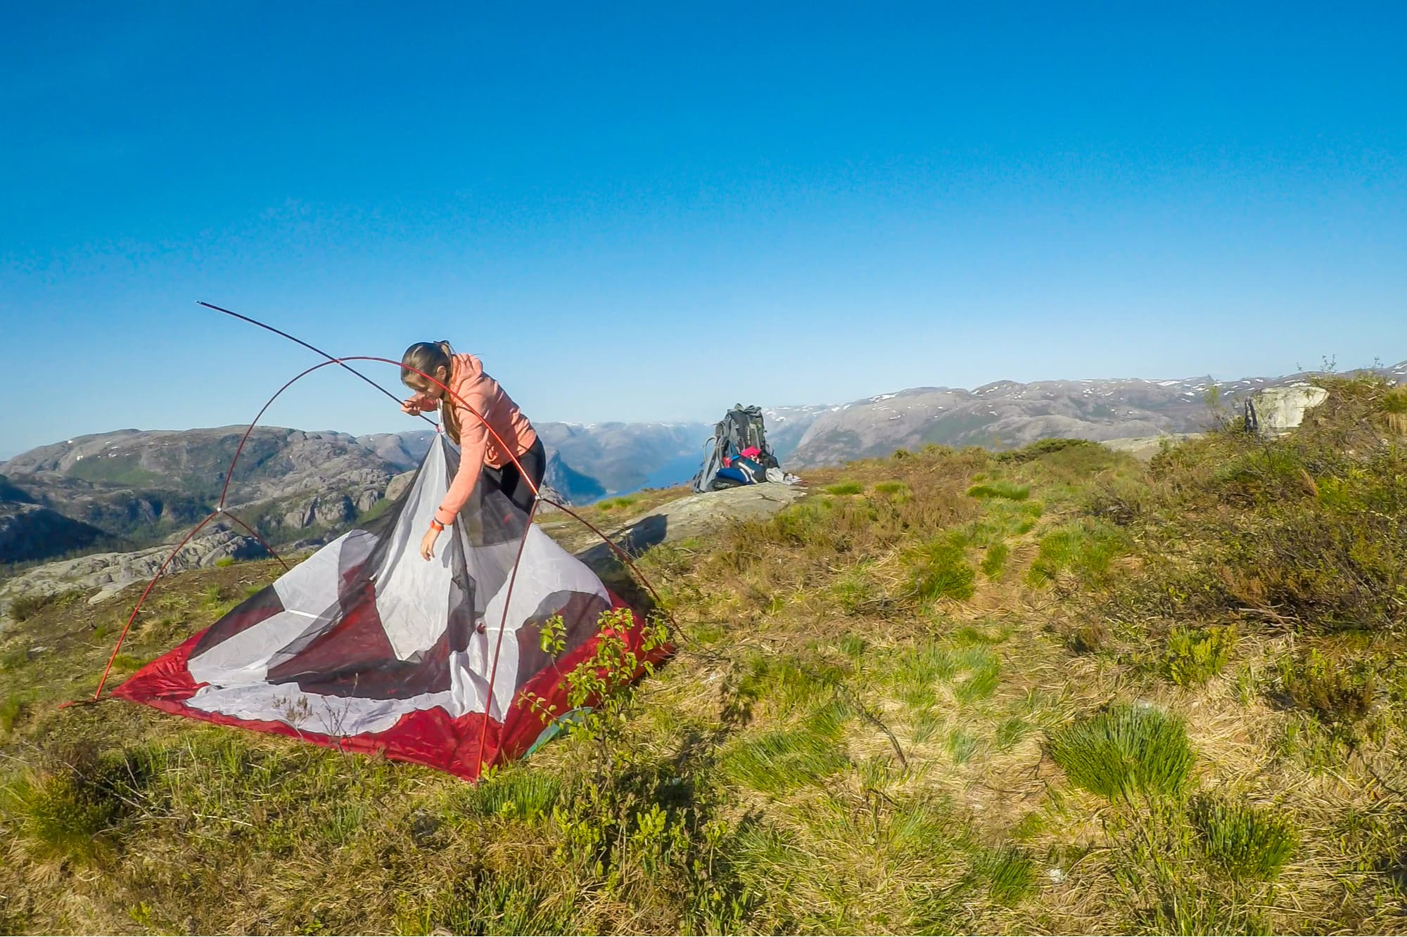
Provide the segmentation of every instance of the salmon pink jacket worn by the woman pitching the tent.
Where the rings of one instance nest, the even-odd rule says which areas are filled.
[[[453,407],[459,419],[459,471],[454,473],[454,481],[450,483],[439,511],[435,512],[435,519],[440,523],[454,522],[460,508],[474,494],[484,466],[502,468],[512,463],[501,452],[498,440],[484,428],[484,422],[469,409],[470,407],[484,416],[515,456],[522,456],[537,442],[537,432],[532,423],[498,381],[484,373],[484,363],[477,356],[454,355],[452,364],[453,370],[446,384],[454,394],[445,394],[445,405]],[[428,400],[421,404],[422,411],[436,408],[438,401]]]

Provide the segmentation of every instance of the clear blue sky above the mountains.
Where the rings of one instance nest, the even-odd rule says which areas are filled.
[[[11,4],[0,457],[1407,359],[1407,7],[1135,6]]]

